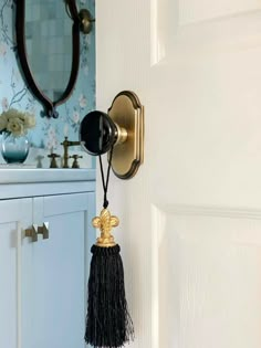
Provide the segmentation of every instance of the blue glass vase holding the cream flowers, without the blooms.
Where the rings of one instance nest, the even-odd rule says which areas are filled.
[[[23,164],[28,157],[30,143],[27,136],[2,135],[1,152],[7,164]]]

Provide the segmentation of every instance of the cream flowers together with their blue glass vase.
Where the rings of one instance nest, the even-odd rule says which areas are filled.
[[[10,108],[0,115],[1,152],[8,164],[22,164],[29,152],[28,129],[35,126],[32,114]]]

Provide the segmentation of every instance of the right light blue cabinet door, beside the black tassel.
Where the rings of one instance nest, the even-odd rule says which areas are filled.
[[[33,221],[49,224],[24,255],[24,348],[84,347],[86,282],[94,239],[94,193],[33,199]],[[25,289],[27,287],[27,289]]]

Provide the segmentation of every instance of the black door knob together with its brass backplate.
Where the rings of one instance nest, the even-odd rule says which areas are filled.
[[[144,107],[137,95],[123,91],[108,113],[88,113],[80,126],[85,151],[100,156],[113,148],[112,169],[121,179],[132,178],[144,159]]]

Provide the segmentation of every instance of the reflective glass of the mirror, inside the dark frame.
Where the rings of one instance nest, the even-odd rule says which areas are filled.
[[[42,93],[59,101],[72,67],[72,19],[63,0],[25,0],[28,64]]]

